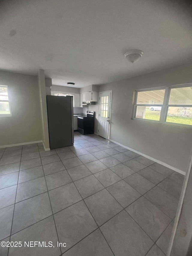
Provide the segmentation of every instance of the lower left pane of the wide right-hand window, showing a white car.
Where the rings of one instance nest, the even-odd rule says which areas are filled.
[[[155,107],[154,107],[155,108]],[[159,107],[161,108],[161,107]],[[160,120],[161,109],[149,109],[148,106],[137,106],[136,116],[137,118],[148,119],[148,120]]]

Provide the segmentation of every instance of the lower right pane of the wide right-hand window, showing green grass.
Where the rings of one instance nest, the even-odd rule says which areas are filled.
[[[192,107],[169,107],[166,122],[192,125]]]

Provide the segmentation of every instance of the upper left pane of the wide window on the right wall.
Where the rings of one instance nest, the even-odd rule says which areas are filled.
[[[164,101],[165,89],[137,92],[137,104],[161,105]]]

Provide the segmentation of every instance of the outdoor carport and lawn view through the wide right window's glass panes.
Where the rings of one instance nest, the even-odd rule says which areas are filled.
[[[137,92],[135,117],[160,121],[164,96],[165,89]],[[165,121],[170,123],[192,125],[192,87],[172,88],[168,98],[169,103],[165,108],[165,111],[167,111]],[[164,115],[164,113],[162,114]]]

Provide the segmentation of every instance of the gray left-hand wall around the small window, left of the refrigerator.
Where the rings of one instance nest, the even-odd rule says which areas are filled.
[[[42,140],[37,76],[0,71],[8,86],[12,116],[0,116],[0,146]]]

